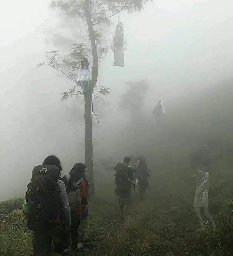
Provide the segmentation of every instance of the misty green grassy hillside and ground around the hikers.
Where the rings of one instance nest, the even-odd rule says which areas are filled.
[[[150,191],[145,202],[134,196],[130,216],[122,223],[113,173],[101,172],[96,178],[95,200],[90,204],[88,235],[92,240],[83,245],[82,255],[233,255],[232,95],[231,82],[223,87],[213,85],[165,106],[167,115],[161,127],[144,120],[147,132],[121,133],[132,142],[131,148],[140,145],[147,155]],[[211,159],[209,211],[217,234],[211,232],[211,224],[206,232],[196,233],[199,223],[192,208],[196,184],[190,178],[193,169],[189,163],[196,146],[206,147]],[[31,256],[31,233],[23,234],[22,213],[12,213],[17,205],[12,207],[13,201],[0,203],[0,255]]]

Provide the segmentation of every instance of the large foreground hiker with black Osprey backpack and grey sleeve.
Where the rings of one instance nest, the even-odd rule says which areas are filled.
[[[60,175],[60,160],[48,156],[43,165],[32,171],[32,180],[27,186],[27,226],[33,231],[33,252],[35,256],[50,256],[52,242],[54,256],[61,256],[70,232],[70,208],[66,187]]]

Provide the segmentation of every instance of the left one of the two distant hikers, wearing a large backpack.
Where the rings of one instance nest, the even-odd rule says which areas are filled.
[[[119,205],[121,209],[122,219],[128,215],[129,207],[132,203],[131,200],[131,190],[132,185],[135,184],[134,180],[134,170],[129,167],[130,158],[127,156],[124,159],[124,163],[117,163],[115,170],[115,194],[119,196]]]

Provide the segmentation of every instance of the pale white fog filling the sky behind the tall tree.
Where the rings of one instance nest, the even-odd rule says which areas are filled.
[[[58,155],[65,173],[85,161],[83,97],[61,101],[72,82],[49,67],[36,67],[46,51],[69,49],[69,42],[56,46],[52,40],[50,32],[59,32],[62,18],[48,9],[49,2],[0,3],[0,200],[22,196],[32,168],[47,155]],[[104,35],[108,46],[118,17],[111,22]],[[101,121],[93,117],[96,168],[101,159],[121,161],[124,154],[154,147],[138,135],[147,127],[147,138],[157,136],[151,113],[158,98],[172,110],[232,78],[232,1],[157,0],[140,13],[121,12],[121,22],[127,38],[125,67],[113,66],[109,49],[99,69],[97,85],[111,88],[111,95],[94,103]],[[128,92],[129,109],[122,108],[128,82],[138,81],[141,86]],[[134,116],[130,103],[142,92],[143,104]]]

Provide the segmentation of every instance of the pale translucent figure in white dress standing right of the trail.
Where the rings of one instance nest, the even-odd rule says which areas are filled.
[[[208,210],[208,206],[209,206],[208,193],[209,193],[209,186],[210,186],[209,172],[205,172],[202,169],[197,169],[196,175],[194,174],[191,176],[196,177],[197,179],[196,192],[195,192],[194,202],[193,202],[193,207],[196,208],[196,214],[201,226],[201,228],[198,229],[197,231],[205,230],[203,219],[200,213],[200,208],[203,208],[204,214],[211,221],[213,225],[213,233],[216,233],[217,231],[216,224],[214,223],[213,217],[210,215]]]

